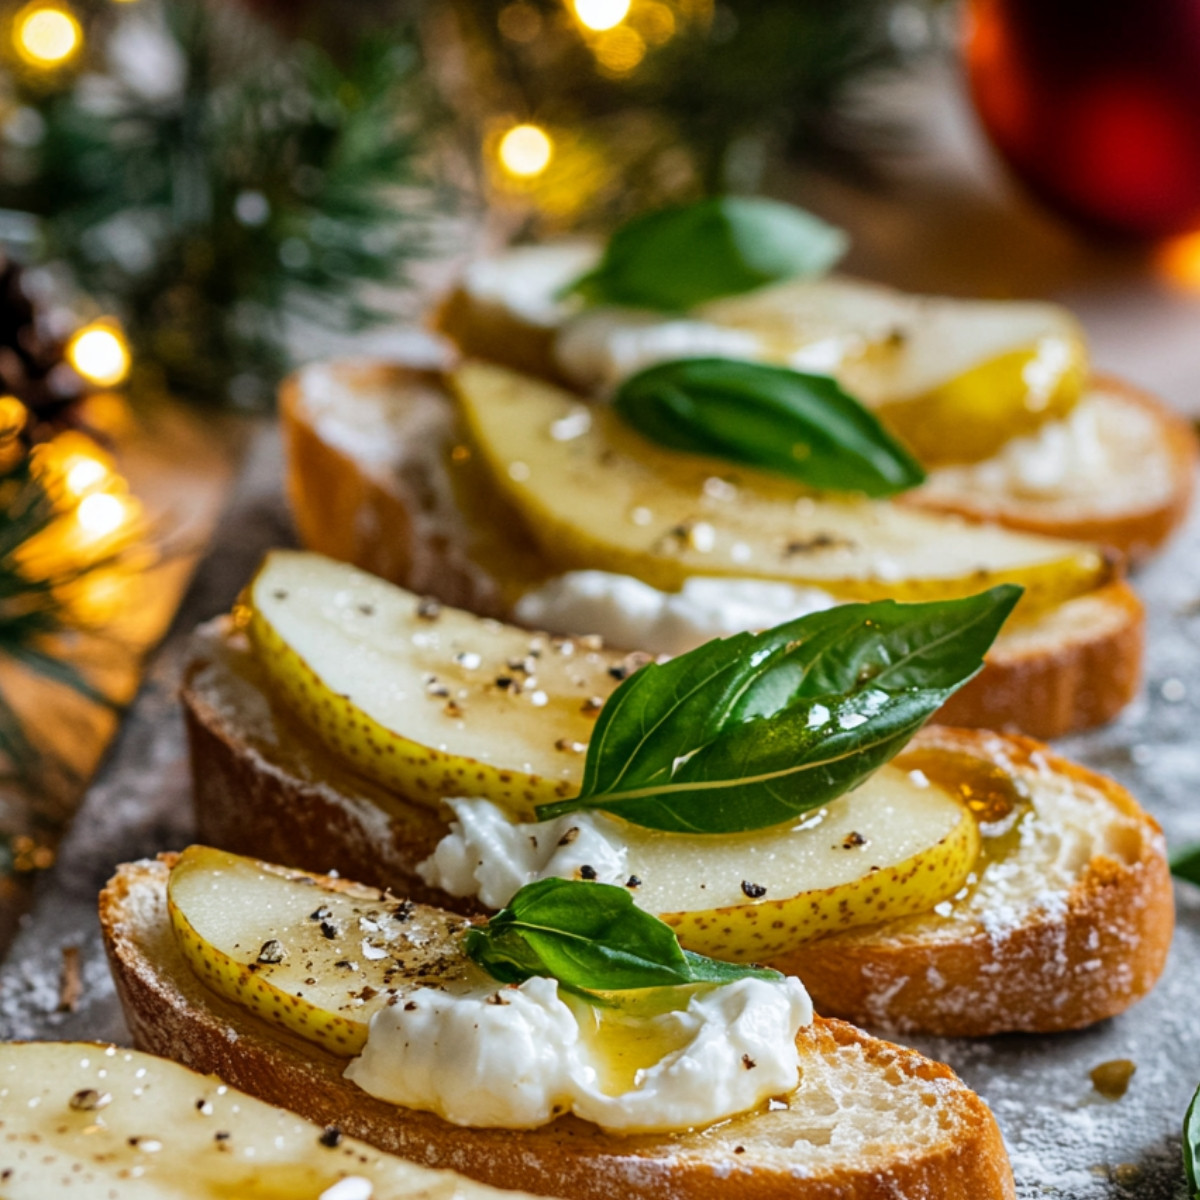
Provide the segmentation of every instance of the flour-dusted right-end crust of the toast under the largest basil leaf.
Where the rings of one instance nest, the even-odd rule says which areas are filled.
[[[774,964],[799,974],[817,1008],[896,1032],[979,1037],[1054,1033],[1124,1012],[1166,965],[1175,896],[1158,823],[1114,780],[1032,738],[931,727],[920,744],[1003,758],[1096,790],[1138,834],[1126,860],[1096,854],[1066,902],[1001,932],[974,923],[952,941],[895,936],[888,925],[811,942]],[[894,928],[894,926],[893,926]]]

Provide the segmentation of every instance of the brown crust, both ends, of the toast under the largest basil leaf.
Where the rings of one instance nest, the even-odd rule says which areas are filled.
[[[202,840],[480,911],[431,889],[416,874],[446,832],[438,812],[349,774],[278,712],[272,744],[248,739],[212,686],[212,672],[222,670],[230,667],[202,652],[182,694]],[[1133,820],[1129,862],[1091,862],[1061,912],[1050,918],[1031,906],[1027,920],[1001,934],[972,925],[950,941],[913,942],[890,938],[883,925],[811,942],[774,965],[804,980],[820,1012],[905,1032],[1076,1028],[1144,996],[1165,964],[1174,896],[1162,832],[1129,793],[1028,738],[931,726],[912,746],[942,746],[1015,772],[1036,762],[1085,784]]]

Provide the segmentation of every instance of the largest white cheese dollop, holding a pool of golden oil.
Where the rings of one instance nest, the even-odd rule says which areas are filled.
[[[739,979],[685,1009],[614,1014],[553,979],[452,995],[431,988],[378,1012],[347,1078],[455,1124],[532,1129],[575,1112],[613,1133],[712,1124],[792,1091],[812,1004],[796,978]]]

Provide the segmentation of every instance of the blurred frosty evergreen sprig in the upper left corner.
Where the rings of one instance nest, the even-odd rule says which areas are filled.
[[[0,158],[0,206],[124,319],[134,386],[265,403],[289,332],[394,316],[371,288],[404,284],[424,248],[415,35],[335,64],[229,4],[121,10],[91,23],[94,56],[140,22],[155,78],[29,91],[40,136]]]

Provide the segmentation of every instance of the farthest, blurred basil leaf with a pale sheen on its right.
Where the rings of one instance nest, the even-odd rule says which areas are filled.
[[[590,304],[680,312],[779,280],[823,275],[847,238],[790,204],[721,196],[647,212],[566,290]]]

